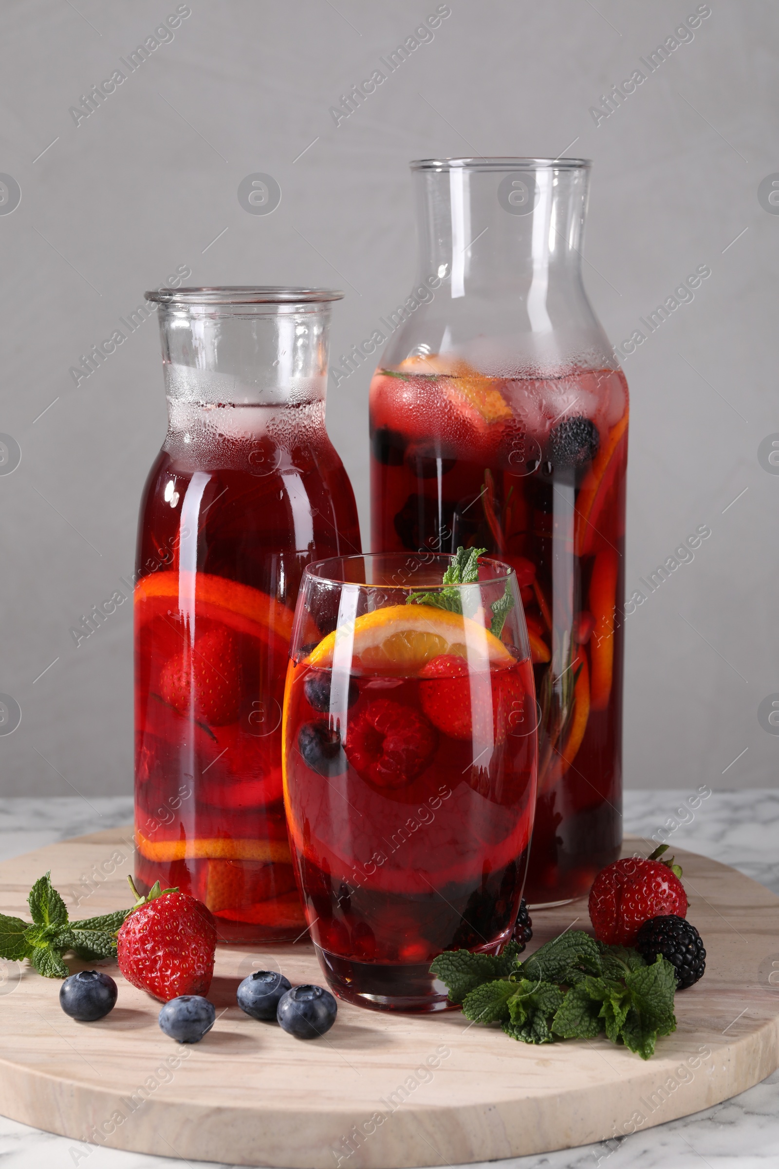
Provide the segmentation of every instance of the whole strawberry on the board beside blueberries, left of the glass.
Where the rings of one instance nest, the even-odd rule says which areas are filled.
[[[138,897],[132,878],[130,886]],[[216,928],[202,901],[153,886],[117,934],[117,961],[127,982],[167,1003],[207,995],[214,976]]]

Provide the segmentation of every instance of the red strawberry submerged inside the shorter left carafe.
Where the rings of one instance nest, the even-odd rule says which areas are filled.
[[[180,714],[213,726],[235,722],[241,706],[241,659],[236,641],[224,625],[199,635],[192,653],[174,653],[160,673],[160,696]]]

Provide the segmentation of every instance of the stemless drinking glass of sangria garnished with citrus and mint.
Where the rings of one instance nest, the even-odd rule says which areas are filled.
[[[285,807],[322,970],[363,1007],[444,1009],[432,960],[496,953],[516,920],[537,711],[515,573],[478,552],[304,573]]]

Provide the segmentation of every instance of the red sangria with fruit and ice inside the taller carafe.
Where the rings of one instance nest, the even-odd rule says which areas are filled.
[[[439,360],[374,378],[374,539],[479,545],[514,568],[541,708],[526,897],[564,900],[613,859],[619,824],[627,387],[608,369],[422,372]]]

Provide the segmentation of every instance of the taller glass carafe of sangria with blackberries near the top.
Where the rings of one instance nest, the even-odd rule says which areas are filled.
[[[370,388],[373,547],[517,574],[538,696],[527,897],[621,843],[625,376],[582,283],[589,162],[412,162],[422,267]]]

